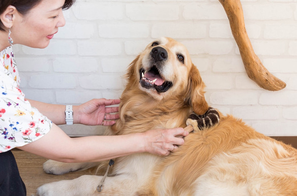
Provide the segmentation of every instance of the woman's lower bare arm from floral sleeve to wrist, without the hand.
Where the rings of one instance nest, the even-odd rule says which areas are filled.
[[[96,162],[144,152],[145,137],[131,134],[69,138],[53,124],[45,136],[19,149],[62,162]]]

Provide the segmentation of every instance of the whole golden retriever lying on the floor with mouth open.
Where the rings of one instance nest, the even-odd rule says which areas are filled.
[[[156,80],[154,80],[156,79]],[[204,83],[187,50],[161,38],[131,63],[121,96],[120,119],[107,135],[185,127],[192,111],[206,112]],[[45,184],[39,195],[297,195],[297,150],[257,133],[232,116],[185,137],[169,156],[149,153],[119,157],[102,176]],[[106,170],[108,162],[100,168]],[[88,164],[87,164],[88,165]],[[63,169],[60,168],[63,167]],[[47,161],[48,173],[91,167]]]

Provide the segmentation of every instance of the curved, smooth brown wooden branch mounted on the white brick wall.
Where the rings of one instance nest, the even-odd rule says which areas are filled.
[[[242,62],[250,79],[255,81],[261,88],[267,90],[281,90],[286,83],[272,75],[262,64],[255,54],[251,41],[248,37],[244,12],[240,0],[219,0],[228,16],[231,31],[239,48]]]

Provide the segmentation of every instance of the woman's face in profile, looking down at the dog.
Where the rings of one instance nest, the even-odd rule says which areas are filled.
[[[24,16],[18,14],[11,27],[15,44],[45,48],[58,28],[65,25],[62,6],[65,0],[42,0]]]

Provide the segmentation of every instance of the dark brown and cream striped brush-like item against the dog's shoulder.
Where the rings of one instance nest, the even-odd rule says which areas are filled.
[[[208,108],[208,110],[203,115],[197,115],[192,112],[188,119],[186,120],[186,125],[192,125],[194,132],[209,128],[220,121],[220,114],[214,108]]]

